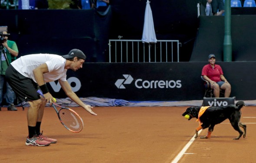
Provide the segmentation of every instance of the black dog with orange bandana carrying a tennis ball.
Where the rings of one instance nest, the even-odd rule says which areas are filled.
[[[194,106],[187,108],[186,112],[182,114],[182,116],[189,115],[191,118],[197,118],[199,120],[200,125],[196,129],[196,136],[198,137],[198,131],[200,129],[208,128],[207,136],[201,137],[204,139],[210,138],[210,134],[213,131],[215,125],[223,122],[226,119],[230,120],[233,128],[239,132],[239,136],[234,138],[234,140],[238,140],[242,135],[243,138],[246,137],[246,125],[240,122],[241,111],[240,109],[245,106],[243,101],[236,102],[236,105],[227,105],[221,107],[200,107]],[[204,112],[203,112],[204,110]],[[243,128],[243,131],[239,128]]]

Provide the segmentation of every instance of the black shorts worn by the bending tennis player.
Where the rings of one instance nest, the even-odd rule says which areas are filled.
[[[38,90],[37,83],[28,77],[24,77],[11,64],[7,68],[5,76],[21,102],[40,99],[36,92]]]

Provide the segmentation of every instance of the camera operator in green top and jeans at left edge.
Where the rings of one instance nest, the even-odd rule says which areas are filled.
[[[3,38],[2,45],[0,45],[1,55],[0,55],[0,110],[2,107],[3,97],[5,97],[9,111],[16,111],[16,107],[13,105],[14,92],[13,89],[6,81],[5,71],[12,61],[16,59],[19,54],[16,42],[8,40],[7,31],[3,31],[0,36]],[[2,40],[2,39],[1,39]],[[6,54],[6,56],[5,56]],[[6,83],[6,95],[3,93],[3,85]]]

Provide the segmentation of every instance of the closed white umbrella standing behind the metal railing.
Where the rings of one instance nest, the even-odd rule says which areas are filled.
[[[153,21],[152,11],[149,3],[150,3],[149,0],[147,0],[145,16],[144,16],[144,28],[143,28],[142,41],[147,43],[156,43],[157,38],[154,31],[154,21]]]

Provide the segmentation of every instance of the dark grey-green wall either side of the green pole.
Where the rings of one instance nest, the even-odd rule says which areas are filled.
[[[199,20],[190,61],[206,61],[209,54],[223,61],[224,16],[200,16]],[[255,15],[231,16],[232,61],[256,61],[256,32],[252,27],[255,21]]]

